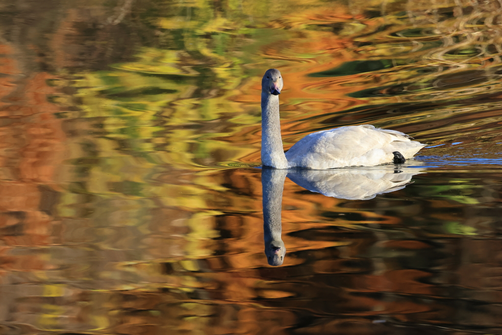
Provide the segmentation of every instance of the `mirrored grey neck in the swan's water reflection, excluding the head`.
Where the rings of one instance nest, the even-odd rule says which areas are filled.
[[[263,231],[265,244],[282,243],[281,203],[287,170],[262,169]]]

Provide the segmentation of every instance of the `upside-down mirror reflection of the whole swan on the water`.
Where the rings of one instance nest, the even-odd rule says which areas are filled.
[[[281,238],[281,202],[286,175],[296,184],[312,192],[343,199],[367,200],[376,194],[406,187],[411,178],[421,173],[403,165],[334,170],[262,169],[263,230],[265,254],[270,265],[283,264],[286,247]]]

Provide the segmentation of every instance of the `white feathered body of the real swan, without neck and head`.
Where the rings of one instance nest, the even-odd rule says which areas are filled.
[[[347,166],[375,166],[393,161],[399,151],[406,159],[425,144],[394,130],[371,125],[348,126],[305,136],[286,153],[288,167],[316,170]]]

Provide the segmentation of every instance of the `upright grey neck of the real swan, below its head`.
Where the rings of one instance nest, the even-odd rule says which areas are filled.
[[[262,164],[287,169],[279,120],[279,96],[262,91]]]

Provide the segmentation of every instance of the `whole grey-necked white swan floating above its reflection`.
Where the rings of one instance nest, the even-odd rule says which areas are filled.
[[[309,134],[285,154],[279,119],[279,94],[283,85],[279,70],[265,72],[262,79],[262,164],[266,167],[326,170],[404,163],[426,146],[395,130],[361,125]]]

